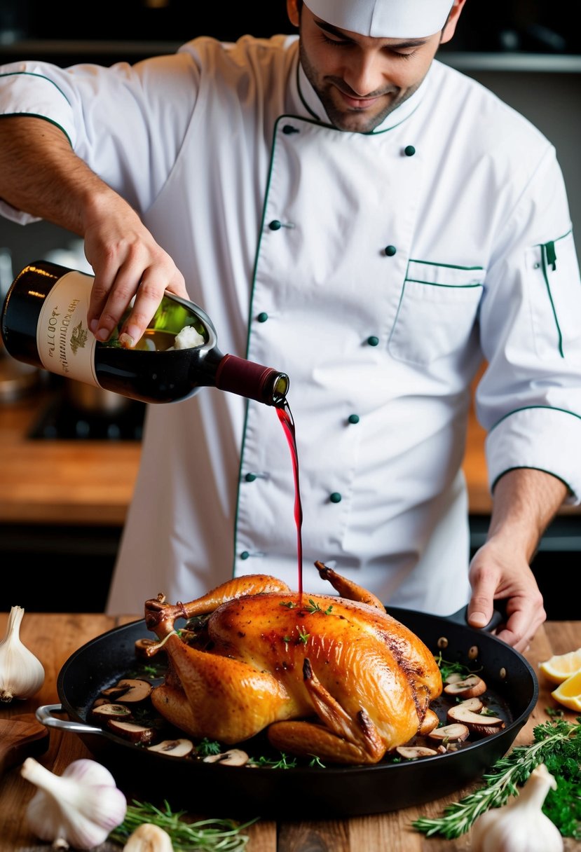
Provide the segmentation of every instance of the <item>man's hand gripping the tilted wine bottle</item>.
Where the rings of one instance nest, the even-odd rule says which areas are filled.
[[[95,273],[89,328],[98,340],[107,340],[135,296],[120,331],[137,343],[165,290],[188,298],[183,275],[135,210],[109,187],[91,199],[85,226],[85,256]]]

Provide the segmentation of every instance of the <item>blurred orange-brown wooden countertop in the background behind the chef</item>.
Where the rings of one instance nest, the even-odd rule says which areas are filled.
[[[135,486],[138,441],[30,440],[47,392],[0,402],[0,523],[123,526]],[[489,515],[484,430],[474,413],[463,469],[472,515]],[[563,513],[579,509],[563,509]]]

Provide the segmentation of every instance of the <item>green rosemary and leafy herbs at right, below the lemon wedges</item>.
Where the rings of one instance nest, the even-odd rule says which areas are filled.
[[[476,817],[490,808],[505,804],[510,796],[518,792],[517,785],[525,783],[532,770],[539,763],[545,763],[547,769],[557,781],[557,790],[549,791],[545,808],[555,822],[561,834],[569,837],[581,837],[579,817],[581,816],[581,735],[577,723],[559,719],[545,722],[533,729],[534,741],[531,746],[515,746],[505,757],[501,757],[492,767],[490,774],[482,776],[483,786],[454,802],[444,809],[440,817],[420,817],[412,826],[428,837],[440,834],[445,838],[458,838],[467,832]],[[575,794],[572,796],[572,787]],[[552,795],[551,795],[552,794]],[[559,803],[567,798],[568,825],[559,824],[554,814],[559,813]],[[577,819],[571,820],[571,809],[577,806]]]

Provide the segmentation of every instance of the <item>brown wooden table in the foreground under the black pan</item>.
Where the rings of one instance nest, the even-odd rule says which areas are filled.
[[[33,713],[38,705],[59,702],[56,693],[56,677],[66,659],[89,639],[101,635],[112,627],[133,621],[137,616],[113,619],[101,614],[76,613],[25,613],[20,627],[20,638],[32,653],[43,663],[46,679],[43,688],[26,701],[2,705],[0,718]],[[7,613],[0,613],[0,638],[6,630]],[[535,670],[540,660],[548,659],[553,653],[565,653],[581,647],[581,621],[549,622],[538,630],[526,657]],[[546,707],[555,707],[550,696],[549,685],[539,676],[540,694],[532,717],[521,729],[515,745],[532,741],[532,728],[548,717]],[[574,713],[567,713],[574,720]],[[92,757],[77,734],[50,729],[48,751],[37,759],[46,767],[60,774],[69,763],[78,757]],[[46,843],[41,844],[26,829],[24,819],[26,803],[32,797],[34,787],[20,777],[18,766],[8,769],[0,785],[0,849],[3,852],[47,852]],[[350,820],[322,820],[275,824],[262,820],[248,830],[249,852],[468,852],[469,834],[456,841],[426,838],[411,828],[417,816],[438,816],[447,803],[457,801],[469,790],[461,790],[451,797],[433,803],[377,816],[358,817]],[[227,818],[225,813],[212,814]],[[565,849],[578,849],[578,843],[565,840]],[[104,843],[100,852],[109,852],[120,847]]]

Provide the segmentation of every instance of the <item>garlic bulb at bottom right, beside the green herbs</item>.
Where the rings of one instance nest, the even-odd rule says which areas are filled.
[[[556,781],[541,763],[519,796],[475,820],[472,852],[561,852],[561,832],[542,811],[549,787],[555,790]]]

